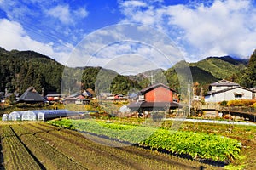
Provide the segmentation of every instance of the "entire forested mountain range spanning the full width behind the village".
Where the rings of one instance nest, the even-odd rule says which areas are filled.
[[[189,65],[199,94],[201,88],[207,92],[208,85],[219,79],[238,82],[247,88],[256,86],[255,58],[256,52],[251,56],[249,64],[247,59],[224,56],[209,57],[196,63],[186,63],[186,65]],[[0,65],[0,91],[2,92],[7,89],[9,92],[21,94],[26,88],[34,86],[39,93],[43,88],[44,94],[61,93],[61,82],[64,82],[62,87],[68,87],[66,93],[92,88],[98,93],[106,91],[127,94],[146,88],[154,82],[163,82],[179,90],[177,69],[182,62],[166,71],[157,69],[136,76],[122,76],[101,67],[67,68],[54,59],[33,51],[7,51],[0,48]],[[65,81],[62,81],[63,78]]]

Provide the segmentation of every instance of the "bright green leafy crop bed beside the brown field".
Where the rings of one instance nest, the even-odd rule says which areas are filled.
[[[67,120],[50,122],[61,127],[108,136],[112,139],[140,144],[152,149],[170,151],[174,154],[186,154],[193,159],[230,162],[239,158],[241,143],[224,136],[171,131],[151,127],[133,127],[131,125],[94,122],[89,120]],[[126,129],[126,130],[124,130]]]

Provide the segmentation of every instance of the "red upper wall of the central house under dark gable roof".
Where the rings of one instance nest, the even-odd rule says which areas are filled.
[[[144,97],[148,102],[172,102],[172,91],[158,87],[148,91]]]

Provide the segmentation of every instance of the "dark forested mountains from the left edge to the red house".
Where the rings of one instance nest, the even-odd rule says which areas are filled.
[[[61,93],[62,78],[70,93],[78,89],[100,88],[101,91],[126,94],[132,88],[141,88],[137,81],[114,71],[101,67],[67,68],[54,59],[33,51],[6,51],[0,48],[0,65],[1,92],[7,89],[8,92],[22,94],[26,88],[33,86],[38,93],[42,93],[44,88],[44,95]],[[64,68],[67,75],[63,75]]]

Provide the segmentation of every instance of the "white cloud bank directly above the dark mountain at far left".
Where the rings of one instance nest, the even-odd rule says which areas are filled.
[[[20,51],[33,50],[48,55],[64,65],[67,63],[69,53],[73,49],[71,44],[55,47],[53,42],[35,41],[26,34],[20,23],[7,19],[0,20],[0,37],[0,47],[2,48],[7,50],[18,49]]]

